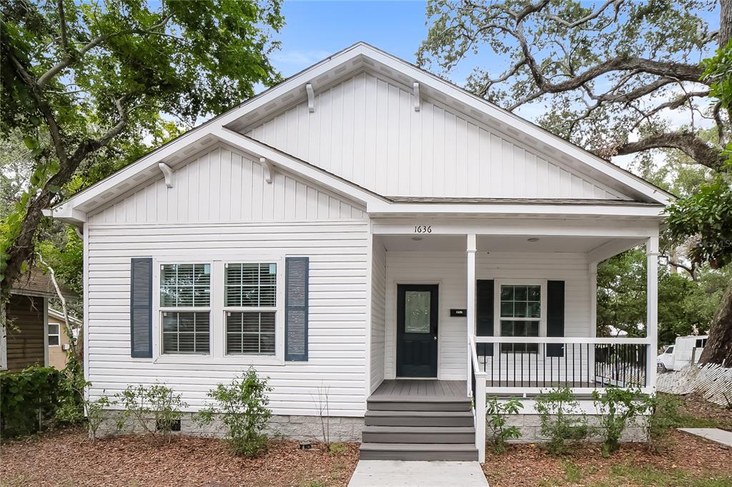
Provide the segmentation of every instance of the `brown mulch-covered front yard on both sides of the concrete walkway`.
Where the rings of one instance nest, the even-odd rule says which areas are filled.
[[[732,429],[732,411],[684,398],[679,426]],[[332,453],[300,450],[297,442],[271,442],[260,458],[232,456],[217,439],[173,437],[160,445],[143,436],[100,439],[82,431],[56,431],[0,445],[0,486],[346,486],[358,445],[337,443]],[[600,445],[583,445],[554,458],[537,445],[512,445],[489,453],[484,471],[502,486],[732,486],[732,448],[673,431],[662,453],[646,444],[623,445],[602,458]],[[446,486],[448,487],[448,486]]]

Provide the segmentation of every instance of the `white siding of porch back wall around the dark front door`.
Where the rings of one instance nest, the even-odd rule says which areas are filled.
[[[450,317],[466,308],[465,252],[386,252],[386,379],[396,371],[397,284],[439,284],[438,378],[466,379],[466,319]],[[476,279],[547,279],[565,282],[565,336],[591,336],[586,254],[479,252]]]

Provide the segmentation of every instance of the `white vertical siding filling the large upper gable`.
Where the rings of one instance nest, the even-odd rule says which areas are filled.
[[[246,135],[387,196],[628,200],[509,135],[368,72]]]

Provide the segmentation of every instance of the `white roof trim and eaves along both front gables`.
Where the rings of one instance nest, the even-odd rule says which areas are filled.
[[[272,155],[274,151],[275,157],[272,160],[281,159],[275,162],[275,165],[285,164],[288,166],[288,170],[304,175],[305,178],[315,178],[315,181],[329,186],[336,192],[343,191],[348,197],[363,203],[368,203],[370,200],[378,201],[378,206],[382,206],[384,202],[391,200],[384,195],[376,195],[373,191],[345,181],[328,171],[308,165],[307,162],[291,154],[277,151],[276,148],[266,146],[264,143],[238,133],[302,102],[307,98],[307,84],[317,91],[365,69],[370,72],[378,72],[379,75],[394,79],[405,86],[419,83],[420,96],[436,99],[489,127],[495,127],[514,137],[520,136],[529,147],[552,154],[554,159],[563,164],[581,166],[584,170],[597,176],[598,180],[608,181],[613,186],[621,188],[625,195],[629,195],[636,202],[667,205],[674,199],[670,193],[629,171],[594,156],[567,140],[503,110],[485,99],[476,97],[463,88],[373,48],[365,42],[358,42],[156,148],[131,165],[73,195],[47,214],[53,213],[53,216],[69,222],[83,222],[87,212],[111,202],[138,184],[143,184],[151,178],[160,178],[160,167],[158,167],[160,162],[174,168],[190,158],[191,154],[220,142],[233,143],[243,151],[258,157],[265,156],[265,152]],[[265,157],[269,159],[269,156]],[[465,203],[470,203],[470,201],[466,199]]]

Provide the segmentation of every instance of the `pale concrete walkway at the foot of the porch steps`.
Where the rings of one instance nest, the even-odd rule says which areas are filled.
[[[477,461],[359,460],[348,487],[488,487]]]

